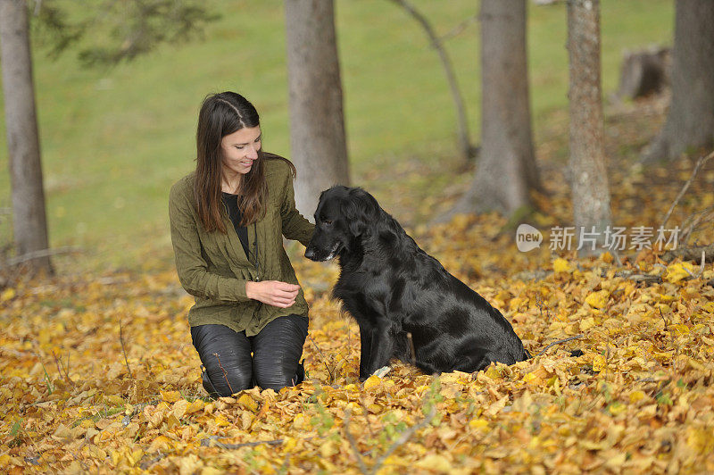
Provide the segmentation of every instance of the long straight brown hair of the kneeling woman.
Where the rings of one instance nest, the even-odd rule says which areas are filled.
[[[235,92],[222,92],[203,100],[196,131],[194,195],[198,217],[208,232],[218,229],[226,233],[226,226],[221,218],[223,202],[220,198],[220,179],[223,155],[220,151],[220,140],[239,129],[259,126],[258,112],[244,96]],[[241,212],[242,226],[253,224],[265,215],[265,204],[268,201],[265,160],[270,159],[285,160],[290,164],[295,177],[295,166],[291,162],[259,150],[251,170],[240,178],[238,209]]]

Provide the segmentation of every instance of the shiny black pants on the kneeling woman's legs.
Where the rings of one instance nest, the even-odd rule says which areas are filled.
[[[270,321],[253,337],[225,325],[191,327],[191,337],[220,396],[256,385],[279,391],[302,380],[303,374],[298,375],[302,371],[299,360],[307,324],[307,317],[293,314]]]

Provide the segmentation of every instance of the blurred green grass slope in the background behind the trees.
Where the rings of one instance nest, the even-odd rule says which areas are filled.
[[[52,246],[86,249],[67,265],[135,267],[170,260],[168,190],[194,166],[196,114],[210,92],[245,94],[261,112],[265,147],[290,155],[282,2],[211,4],[222,18],[203,40],[162,46],[113,69],[82,69],[72,52],[53,62],[35,48],[50,240]],[[477,12],[477,3],[469,0],[414,4],[440,34]],[[603,0],[605,94],[617,87],[623,48],[671,43],[673,14],[671,0]],[[528,2],[528,15],[538,137],[538,130],[567,108],[565,6]],[[336,24],[354,181],[369,187],[361,176],[386,161],[455,154],[452,99],[437,54],[418,24],[386,0],[338,0]],[[473,22],[446,43],[475,140],[478,35]],[[4,140],[3,133],[0,207],[10,206]],[[0,239],[11,238],[7,221],[0,226]]]

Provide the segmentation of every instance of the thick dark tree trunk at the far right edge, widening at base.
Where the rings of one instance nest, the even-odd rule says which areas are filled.
[[[714,2],[677,0],[672,102],[644,162],[672,161],[714,143]]]

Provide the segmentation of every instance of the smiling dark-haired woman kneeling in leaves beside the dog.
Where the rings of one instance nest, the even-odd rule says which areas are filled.
[[[170,191],[176,269],[195,296],[188,322],[212,396],[304,378],[308,307],[283,236],[307,245],[314,226],[295,209],[295,167],[263,152],[261,139],[245,97],[208,96],[195,171]]]

